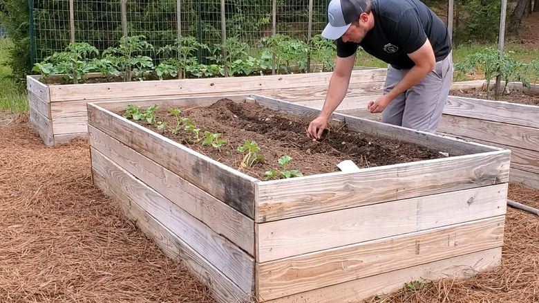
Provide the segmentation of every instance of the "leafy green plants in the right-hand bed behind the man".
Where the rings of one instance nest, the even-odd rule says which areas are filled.
[[[498,49],[484,48],[478,53],[473,53],[464,58],[464,62],[455,64],[455,70],[459,73],[482,73],[486,80],[486,96],[489,98],[490,80],[500,75],[505,82],[504,90],[509,82],[522,82],[524,87],[529,87],[531,82],[537,83],[539,80],[539,58],[534,59],[531,64],[518,62],[511,51],[500,56]],[[533,79],[529,79],[529,75]]]

